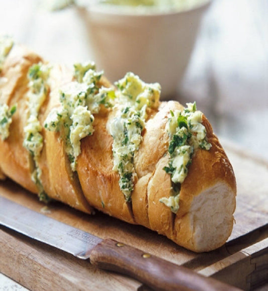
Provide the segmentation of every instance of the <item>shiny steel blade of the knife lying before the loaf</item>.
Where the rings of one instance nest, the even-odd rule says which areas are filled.
[[[35,240],[88,259],[102,239],[0,197],[0,223]]]

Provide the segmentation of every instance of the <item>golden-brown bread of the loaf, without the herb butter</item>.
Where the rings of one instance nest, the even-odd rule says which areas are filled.
[[[33,63],[42,59],[29,50],[18,47],[8,56],[1,76],[0,102],[9,106],[18,104],[10,127],[10,136],[0,139],[0,178],[9,176],[23,187],[37,193],[31,179],[31,158],[23,147],[27,116],[27,72]],[[66,67],[54,65],[50,74],[50,91],[40,113],[44,121],[53,108],[61,107],[59,88],[72,80]],[[111,86],[105,78],[99,85]],[[95,114],[94,133],[81,140],[76,172],[72,172],[60,132],[42,129],[44,145],[38,164],[42,170],[41,182],[48,195],[78,210],[93,213],[93,209],[140,224],[175,243],[196,252],[220,247],[229,237],[235,209],[235,176],[218,138],[203,115],[210,150],[198,148],[193,155],[189,172],[181,184],[180,208],[174,214],[160,203],[170,196],[171,179],[164,171],[168,164],[168,134],[166,123],[170,110],[183,110],[175,101],[162,102],[150,110],[142,133],[142,142],[134,155],[137,173],[132,201],[126,202],[119,186],[119,174],[113,170],[113,137],[107,122],[115,111],[101,106]]]

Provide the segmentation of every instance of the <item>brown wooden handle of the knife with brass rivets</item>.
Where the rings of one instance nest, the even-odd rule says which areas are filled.
[[[98,244],[90,261],[98,268],[129,275],[157,290],[239,290],[112,239]]]

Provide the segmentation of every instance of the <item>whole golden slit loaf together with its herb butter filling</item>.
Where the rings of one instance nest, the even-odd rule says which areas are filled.
[[[160,85],[133,73],[113,85],[93,63],[72,69],[1,45],[0,178],[195,252],[226,242],[235,176],[196,104],[160,102]]]

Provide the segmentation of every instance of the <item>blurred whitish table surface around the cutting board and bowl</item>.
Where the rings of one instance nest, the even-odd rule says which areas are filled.
[[[170,96],[182,104],[196,101],[217,135],[266,160],[267,15],[267,0],[214,0],[185,78]],[[13,35],[51,61],[92,59],[86,27],[74,8],[51,13],[34,0],[0,0],[0,34]],[[0,290],[16,288],[23,287],[0,276]]]

